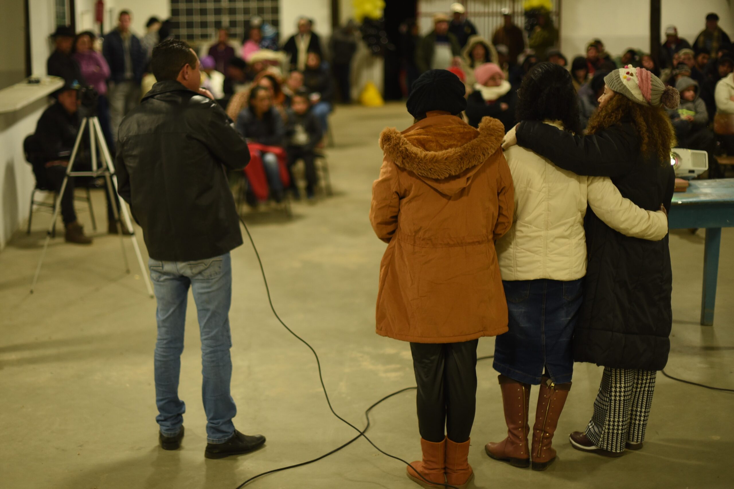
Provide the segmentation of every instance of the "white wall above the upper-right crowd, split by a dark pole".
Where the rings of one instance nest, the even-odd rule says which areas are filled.
[[[708,12],[719,14],[719,25],[734,35],[734,2],[730,0],[663,0],[661,31],[672,23],[678,35],[693,43],[704,28]],[[585,54],[586,43],[603,40],[613,56],[626,48],[650,50],[650,5],[640,0],[563,0],[561,4],[561,49],[571,59]],[[661,32],[661,42],[664,38]]]

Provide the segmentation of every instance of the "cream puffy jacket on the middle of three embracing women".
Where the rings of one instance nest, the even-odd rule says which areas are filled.
[[[515,186],[515,217],[497,241],[502,280],[583,278],[587,207],[625,236],[660,241],[668,233],[663,212],[640,209],[610,178],[576,175],[520,146],[504,154]]]

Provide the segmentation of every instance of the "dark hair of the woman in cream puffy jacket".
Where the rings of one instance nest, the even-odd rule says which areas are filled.
[[[581,132],[571,73],[556,63],[535,65],[517,92],[515,120],[560,120],[566,131]]]

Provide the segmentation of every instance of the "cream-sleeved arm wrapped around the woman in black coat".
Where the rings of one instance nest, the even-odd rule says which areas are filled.
[[[589,206],[606,225],[633,238],[660,241],[668,233],[668,217],[663,211],[646,211],[622,197],[609,178],[589,178]]]

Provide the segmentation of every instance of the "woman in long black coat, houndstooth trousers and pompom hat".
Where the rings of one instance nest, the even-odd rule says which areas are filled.
[[[667,211],[675,186],[669,164],[675,133],[662,106],[677,106],[677,90],[644,68],[614,70],[604,81],[588,135],[525,121],[507,134],[506,145],[516,138],[564,170],[611,177],[622,196],[643,209]],[[574,360],[605,368],[594,416],[570,441],[576,449],[617,457],[625,448],[642,448],[656,371],[668,360],[668,237],[652,242],[624,236],[590,210],[585,228],[589,263]]]

